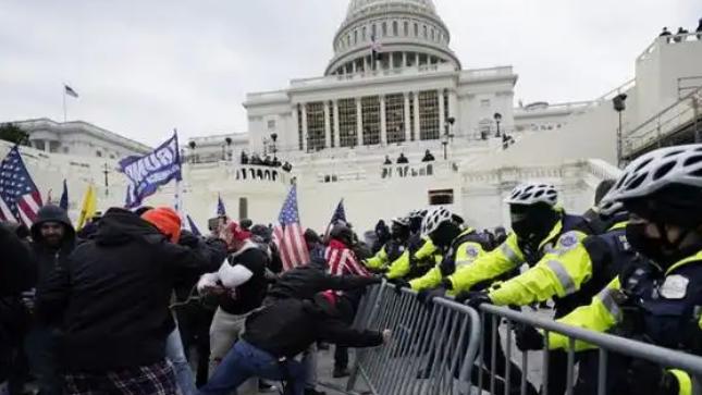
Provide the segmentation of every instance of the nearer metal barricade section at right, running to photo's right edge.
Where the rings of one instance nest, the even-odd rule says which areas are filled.
[[[480,309],[481,320],[484,323],[492,322],[492,325],[491,328],[489,328],[489,334],[483,333],[482,340],[480,342],[480,356],[478,357],[476,369],[478,369],[478,366],[481,365],[480,361],[485,360],[487,353],[490,353],[492,356],[491,369],[489,371],[489,375],[484,378],[484,380],[489,380],[489,384],[484,385],[484,383],[482,383],[482,381],[484,380],[481,374],[479,377],[481,383],[479,383],[478,386],[473,386],[470,394],[482,394],[478,390],[482,387],[483,391],[495,395],[525,395],[533,393],[533,387],[530,387],[532,384],[541,384],[542,390],[540,394],[549,395],[550,380],[565,379],[565,394],[571,395],[575,393],[577,375],[589,374],[589,377],[578,378],[578,384],[581,385],[583,383],[588,383],[588,387],[592,388],[590,392],[587,392],[589,394],[605,395],[608,393],[607,387],[614,385],[612,383],[612,380],[621,381],[624,380],[623,375],[626,377],[626,367],[623,367],[620,365],[629,363],[633,359],[643,359],[651,361],[666,369],[680,369],[688,372],[693,378],[702,377],[702,357],[632,341],[629,338],[624,338],[620,336],[592,332],[583,330],[581,328],[562,324],[535,312],[525,313],[521,311],[515,311],[508,308],[491,305],[483,305]],[[515,351],[517,347],[514,345],[512,334],[515,324],[529,325],[542,330],[544,334],[543,350],[531,353]],[[483,330],[484,329],[487,329],[485,325],[483,325]],[[553,358],[553,356],[555,355],[554,353],[549,351],[550,332],[559,333],[568,337],[569,347],[568,349],[561,351],[563,354],[558,356],[561,358],[559,361],[562,360],[562,362],[559,363],[550,365],[550,358]],[[503,341],[500,343],[498,340],[501,337],[503,338]],[[576,341],[587,342],[593,346],[596,346],[596,348],[588,351],[575,351]],[[485,344],[488,342],[491,343],[490,346]],[[496,368],[495,354],[500,353],[501,348],[504,349],[507,361],[514,362],[513,359],[516,359],[519,361],[519,363],[506,363],[502,369]],[[583,355],[592,357],[589,358],[589,361],[592,361],[593,365],[589,367],[594,367],[594,369],[589,369],[587,373],[582,371],[582,366],[580,367],[580,369],[576,368],[577,362],[579,360],[583,360],[580,358]],[[527,377],[530,372],[531,362],[541,363],[541,368],[535,369],[537,373],[540,372],[540,378],[532,378],[532,383],[529,383]],[[619,366],[615,366],[615,363]],[[552,368],[558,368],[559,371],[550,372],[550,366]],[[519,369],[522,372],[519,382],[510,381],[510,379],[514,379],[514,374],[510,372],[510,369],[514,370],[515,368]],[[580,370],[580,372],[578,372],[578,370]],[[561,377],[562,372],[565,373],[565,378]],[[615,374],[616,377],[614,377]],[[612,380],[608,381],[608,378]],[[501,388],[496,388],[495,383],[498,383],[501,380],[503,385]],[[625,383],[619,383],[619,385],[621,384]],[[616,387],[616,385],[614,386]],[[583,393],[582,391],[579,392]],[[609,392],[611,395],[617,395],[620,393],[621,392],[619,391]]]

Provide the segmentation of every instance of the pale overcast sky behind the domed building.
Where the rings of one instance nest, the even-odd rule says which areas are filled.
[[[633,76],[700,0],[434,0],[465,69],[512,64],[515,99],[588,100]],[[0,122],[85,120],[149,145],[246,132],[246,92],[320,76],[347,0],[0,0]]]

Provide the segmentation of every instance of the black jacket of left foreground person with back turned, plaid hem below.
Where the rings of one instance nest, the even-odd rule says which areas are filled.
[[[207,251],[169,243],[136,214],[110,209],[38,295],[39,317],[62,323],[62,366],[103,372],[163,360],[175,273],[215,269],[208,263]]]

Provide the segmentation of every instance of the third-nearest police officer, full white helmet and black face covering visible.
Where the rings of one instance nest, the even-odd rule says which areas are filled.
[[[557,207],[558,193],[553,185],[529,183],[517,186],[506,202],[509,205],[513,233],[495,250],[476,259],[442,281],[453,293],[465,293],[501,275],[510,276],[522,263],[535,266],[546,254],[558,248],[572,248],[590,232],[587,222],[579,215],[567,214]],[[546,266],[547,268],[547,266]],[[554,271],[551,271],[552,273]],[[445,291],[438,289],[434,295]],[[566,366],[563,351],[550,356],[550,372]],[[549,382],[550,394],[563,394],[565,374],[553,374]]]

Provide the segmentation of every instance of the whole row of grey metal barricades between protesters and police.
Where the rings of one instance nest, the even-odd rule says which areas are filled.
[[[397,293],[392,284],[370,289],[355,324],[391,329],[393,341],[357,350],[346,393],[549,395],[561,387],[568,395],[616,395],[628,393],[621,388],[635,360],[686,371],[693,382],[702,378],[702,357],[565,325],[546,310],[491,305],[480,310],[443,298],[424,305],[415,292]],[[513,332],[527,328],[544,335],[542,350],[518,350]],[[569,348],[549,350],[550,333],[566,336]],[[576,341],[593,347],[575,351]],[[561,384],[550,385],[553,381]]]

